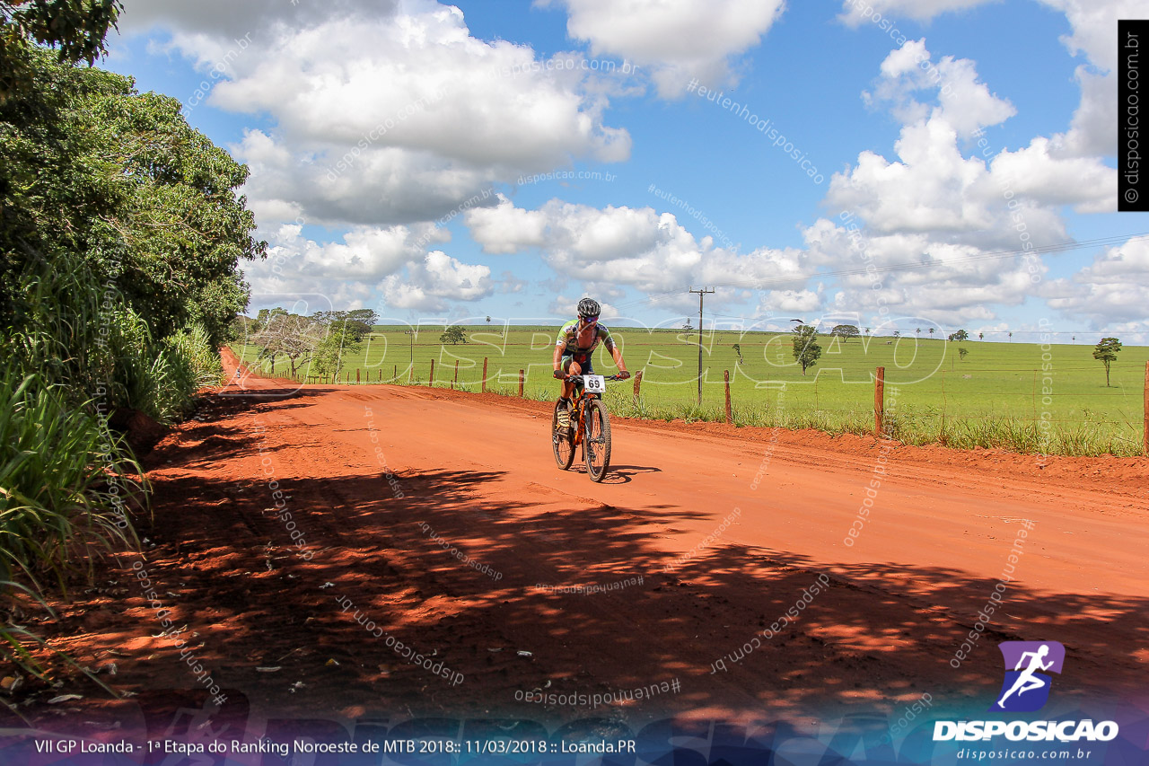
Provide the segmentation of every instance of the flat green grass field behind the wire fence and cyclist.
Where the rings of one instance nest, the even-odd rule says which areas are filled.
[[[477,391],[487,360],[487,390],[552,399],[556,327],[466,328],[468,343],[440,344],[442,327],[379,325],[363,347],[348,353],[340,381],[434,385]],[[872,337],[842,342],[819,336],[818,363],[803,376],[789,335],[718,331],[703,334],[702,405],[697,405],[697,334],[614,328],[627,368],[642,370],[641,397],[633,384],[610,386],[611,412],[686,420],[725,418],[724,370],[738,424],[817,428],[830,432],[873,430],[873,375],[886,368],[887,431],[909,444],[1003,447],[1050,454],[1141,454],[1144,366],[1149,347],[1127,346],[1110,373],[1093,359],[1092,344],[963,344],[918,338]],[[741,361],[733,344],[741,347]],[[969,354],[959,360],[958,346]],[[238,352],[239,348],[237,347]],[[257,348],[242,359],[255,365]],[[458,368],[455,383],[455,368]],[[1043,369],[1044,366],[1044,369]],[[595,371],[614,362],[600,348]],[[285,360],[275,370],[286,375]],[[300,380],[308,380],[303,373]],[[310,380],[317,380],[311,377]]]

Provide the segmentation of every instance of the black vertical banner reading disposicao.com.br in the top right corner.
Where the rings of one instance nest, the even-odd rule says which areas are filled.
[[[1118,20],[1117,59],[1117,209],[1149,213],[1149,130],[1141,125],[1141,97],[1149,98],[1149,20]]]

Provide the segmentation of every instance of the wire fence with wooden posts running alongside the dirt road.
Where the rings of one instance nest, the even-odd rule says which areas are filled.
[[[291,377],[302,384],[398,384],[492,392],[537,400],[554,399],[557,381],[549,361],[508,366],[500,357],[444,353],[404,363],[348,365],[339,373],[311,374],[290,365],[255,363],[261,375]],[[364,357],[367,361],[368,357]],[[655,360],[661,361],[661,360]],[[728,421],[734,426],[815,428],[831,434],[876,435],[907,444],[942,444],[962,449],[1004,449],[1031,454],[1141,455],[1149,453],[1149,362],[1142,380],[1139,365],[1112,365],[1115,385],[1098,382],[1101,366],[1062,363],[1056,368],[965,366],[951,362],[933,369],[882,371],[884,391],[874,398],[878,370],[819,369],[803,376],[769,363],[730,368],[703,367],[684,375],[681,360],[647,365],[630,386],[612,385],[606,397],[624,416]],[[602,362],[600,371],[604,367]],[[1136,385],[1132,384],[1136,380]],[[880,426],[878,422],[880,421]]]

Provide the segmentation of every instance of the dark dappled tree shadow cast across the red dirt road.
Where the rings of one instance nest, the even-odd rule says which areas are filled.
[[[288,406],[307,405],[231,400],[203,428],[230,441],[229,415]],[[252,442],[229,449],[218,458],[259,454]],[[177,468],[180,454],[168,454]],[[202,458],[183,459],[192,467]],[[277,499],[259,474],[156,480],[146,556],[170,619],[198,634],[200,661],[282,713],[825,718],[896,713],[923,694],[938,708],[988,706],[1002,677],[996,644],[1007,639],[1062,641],[1056,684],[1073,699],[1144,688],[1131,654],[1149,641],[1149,599],[1040,592],[1023,579],[955,668],[997,572],[704,543],[677,529],[720,521],[704,498],[606,505],[506,470],[388,478],[370,469],[279,485]],[[130,581],[125,561],[103,575]],[[173,642],[146,639],[161,631],[156,610],[133,587],[110,607],[92,606],[99,631],[80,605],[63,634],[88,633],[76,641],[93,659],[129,648],[118,683],[194,687]],[[396,643],[465,681],[452,685],[411,664]],[[622,706],[524,699],[589,699],[672,679],[679,692]]]

